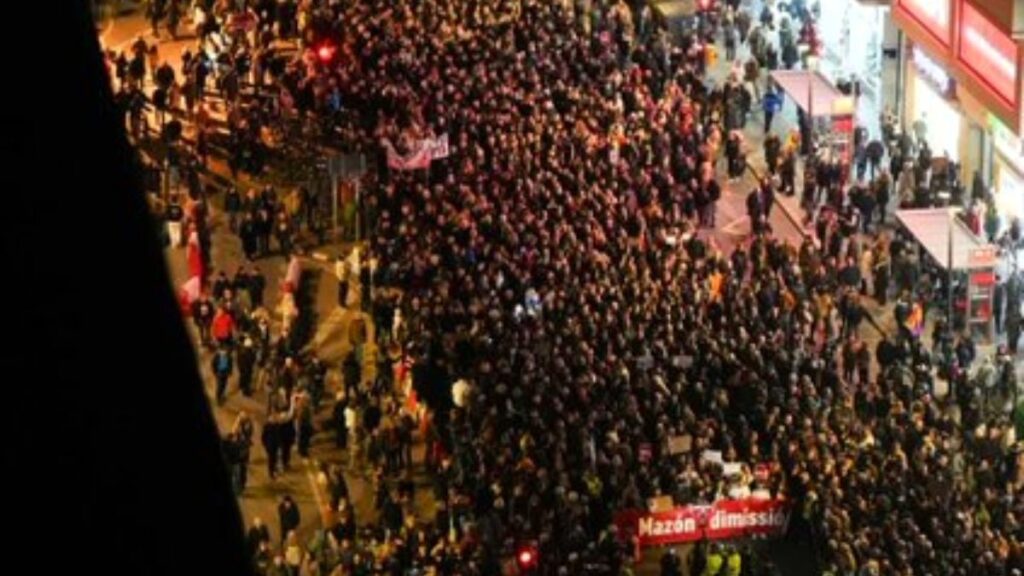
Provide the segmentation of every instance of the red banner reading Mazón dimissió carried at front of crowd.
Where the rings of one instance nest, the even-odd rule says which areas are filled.
[[[636,536],[641,547],[752,536],[781,536],[790,520],[784,500],[720,500],[664,512],[626,510],[615,515],[623,539]]]

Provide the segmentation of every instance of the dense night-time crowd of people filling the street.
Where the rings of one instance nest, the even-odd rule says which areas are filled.
[[[167,13],[160,4],[154,13]],[[741,130],[757,110],[771,130],[781,98],[764,71],[799,66],[797,43],[817,42],[812,13],[798,2],[799,17],[770,7],[754,17],[738,0],[723,2],[721,26],[674,45],[642,4],[197,3],[203,49],[184,65],[182,108],[202,120],[216,78],[238,111],[228,115],[232,170],[261,170],[262,128],[283,118],[323,121],[318,133],[368,152],[383,152],[384,138],[399,152],[436,134],[451,142],[426,173],[381,162],[366,178],[367,260],[377,264],[358,271],[396,289],[360,299],[384,343],[412,359],[430,408],[422,427],[437,513],[417,518],[413,506],[414,413],[388,398],[388,376],[360,386],[353,355],[332,423],[338,448],[376,464],[378,518],[357,526],[341,467],[327,466],[332,515],[311,542],[297,540],[297,521],[284,512],[282,542],[262,525],[250,531],[263,573],[496,574],[517,544],[532,542],[541,573],[623,574],[633,549],[616,535],[616,511],[658,496],[710,503],[753,492],[791,502],[810,561],[830,574],[1024,571],[1024,458],[1013,422],[989,402],[990,390],[1016,390],[1016,349],[979,379],[969,335],[937,329],[926,345],[932,298],[914,272],[922,257],[881,232],[900,190],[890,174],[906,173],[904,162],[886,169],[882,159],[915,150],[880,152],[861,135],[848,167],[814,159],[806,121],[784,143],[769,136],[766,174],[746,201],[752,237],[721,252],[701,233],[715,223],[717,167],[724,158],[730,177],[744,171]],[[244,10],[254,29],[224,30]],[[299,41],[297,55],[276,55],[282,38]],[[707,72],[718,39],[730,60],[737,47],[753,57],[716,84]],[[317,57],[328,41],[337,56]],[[146,53],[117,73],[126,94],[139,92],[133,71],[144,76]],[[239,82],[256,95],[243,98]],[[815,233],[791,246],[768,222],[776,194],[798,194],[801,156]],[[269,249],[245,231],[273,217],[260,214],[275,213],[272,200],[254,191],[231,204],[247,255]],[[282,213],[284,225],[299,224],[290,218],[301,211]],[[249,284],[234,286],[251,286]],[[1015,290],[1008,314],[1020,310]],[[234,289],[219,292],[220,304],[204,296],[193,308],[214,342]],[[873,351],[858,330],[868,297],[895,297],[899,326]],[[381,329],[395,316],[395,330]],[[248,347],[270,347],[260,330],[239,332],[230,347],[217,342],[239,349],[233,362],[214,355],[214,373],[237,364],[241,374]],[[270,476],[288,466],[294,443],[303,450],[303,435],[308,447],[303,409],[324,389],[323,366],[302,362],[287,333],[282,341],[261,435]],[[392,373],[389,360],[381,374]],[[948,395],[934,394],[938,379]],[[232,462],[248,461],[255,436],[240,419]],[[679,437],[691,439],[689,451],[670,450]],[[703,461],[705,450],[771,474],[737,482]],[[232,466],[240,491],[244,468]],[[731,561],[710,560],[721,560],[717,550],[692,558],[690,573],[731,574]],[[667,574],[678,569],[671,564]]]

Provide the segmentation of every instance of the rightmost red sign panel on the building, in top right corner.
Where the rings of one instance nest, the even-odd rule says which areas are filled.
[[[1017,104],[1017,43],[971,4],[961,17],[961,63],[1010,106]]]

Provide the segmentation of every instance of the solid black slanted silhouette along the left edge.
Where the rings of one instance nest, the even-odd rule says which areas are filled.
[[[33,49],[6,71],[9,545],[52,574],[249,574],[213,415],[88,4],[22,10],[52,53]],[[13,36],[5,42],[17,51]]]

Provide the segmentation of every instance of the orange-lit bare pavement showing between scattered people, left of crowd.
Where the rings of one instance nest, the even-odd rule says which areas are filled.
[[[133,41],[136,36],[141,35],[147,41],[152,41],[148,26],[139,13],[130,13],[123,17],[115,18],[112,23],[100,31],[103,42],[112,48],[123,48]],[[162,38],[160,42],[161,56],[170,61],[172,67],[179,68],[178,60],[181,52],[186,46],[190,46],[191,41],[181,39],[172,41]],[[147,90],[152,89],[151,79],[146,79]],[[153,111],[147,114],[151,126],[156,126]],[[184,125],[183,138],[187,139],[191,134],[191,126],[179,116],[179,120]],[[218,107],[211,113],[212,125],[215,130],[224,133],[224,111]],[[217,136],[218,138],[220,136]],[[228,186],[236,186],[240,190],[249,188],[260,188],[265,183],[273,183],[282,187],[286,182],[278,172],[270,171],[265,174],[253,176],[240,172],[238,178],[231,178],[226,162],[218,155],[221,152],[217,147],[217,139],[213,139],[211,148],[213,154],[210,157],[209,169],[203,172],[201,178],[208,187],[211,200],[210,224],[212,229],[211,260],[215,270],[224,270],[230,277],[236,268],[245,260],[242,253],[241,241],[227,230],[226,214],[223,211],[223,196],[217,194]],[[138,147],[154,152],[152,145]],[[143,150],[144,152],[144,150]],[[158,151],[159,152],[159,151]],[[303,232],[308,236],[308,233]],[[313,243],[306,243],[311,246]],[[252,456],[249,465],[249,482],[245,493],[239,498],[245,520],[251,523],[254,518],[260,518],[270,529],[271,539],[276,542],[279,535],[276,504],[284,494],[291,494],[299,505],[302,523],[299,527],[301,541],[305,541],[313,530],[324,526],[326,520],[325,507],[329,502],[329,497],[318,483],[318,471],[322,463],[343,463],[347,461],[345,454],[339,453],[334,445],[334,435],[330,426],[331,409],[333,407],[336,390],[341,388],[341,361],[355,346],[352,340],[353,331],[351,326],[355,321],[360,321],[367,327],[367,345],[364,349],[362,379],[365,383],[373,381],[377,376],[378,352],[375,340],[375,326],[371,315],[362,313],[358,305],[358,294],[360,288],[358,280],[353,279],[350,294],[353,299],[349,301],[349,306],[342,308],[337,302],[337,279],[334,276],[334,258],[337,254],[347,253],[352,248],[351,243],[329,243],[318,246],[310,251],[307,257],[303,258],[303,269],[307,271],[311,279],[314,293],[311,294],[311,307],[314,316],[315,329],[311,335],[306,348],[319,356],[328,367],[327,386],[324,396],[324,403],[314,415],[315,433],[310,446],[310,458],[307,461],[299,459],[297,454],[293,455],[292,470],[281,475],[271,481],[267,476],[266,456],[259,442],[259,430],[266,412],[266,390],[257,390],[252,398],[244,398],[238,392],[237,377],[232,377],[228,384],[228,398],[222,406],[216,406],[212,402],[214,394],[214,378],[209,367],[209,355],[203,352],[198,345],[196,357],[199,363],[199,370],[207,383],[207,393],[211,398],[211,408],[215,416],[217,425],[222,434],[226,434],[241,411],[248,413],[257,424],[257,438],[252,447]],[[174,282],[173,288],[176,290],[186,280],[187,270],[184,261],[184,250],[179,248],[168,248],[166,251],[167,262],[171,277]],[[273,310],[281,300],[281,282],[284,279],[287,262],[281,257],[270,256],[262,258],[256,262],[264,277],[266,278],[266,292],[264,300],[268,304],[271,314],[272,328],[274,333],[280,330],[280,315]],[[194,331],[190,320],[186,319],[189,331]],[[194,337],[196,334],[194,334]],[[194,340],[195,341],[195,340]],[[429,480],[423,467],[424,448],[422,439],[416,435],[414,444],[414,481],[417,485],[417,498],[415,510],[421,518],[429,518],[435,508],[432,501],[433,491],[426,488]],[[373,523],[377,518],[374,509],[374,490],[372,478],[366,469],[359,467],[345,467],[345,478],[350,491],[350,501],[355,507],[355,517],[359,526]]]

